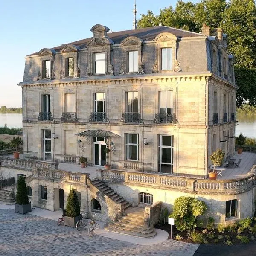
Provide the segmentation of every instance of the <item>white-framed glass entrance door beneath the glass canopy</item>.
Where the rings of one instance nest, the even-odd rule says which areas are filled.
[[[106,164],[106,153],[107,148],[104,138],[93,137],[94,146],[94,165],[104,166]]]

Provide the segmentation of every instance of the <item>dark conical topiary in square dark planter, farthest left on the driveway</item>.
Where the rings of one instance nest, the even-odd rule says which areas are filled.
[[[29,202],[28,192],[26,189],[26,181],[24,177],[19,177],[17,182],[17,195],[14,208],[15,212],[21,214],[31,212],[31,203]]]

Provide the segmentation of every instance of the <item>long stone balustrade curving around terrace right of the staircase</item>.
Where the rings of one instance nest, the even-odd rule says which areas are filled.
[[[106,182],[125,183],[204,195],[235,195],[243,193],[255,185],[254,174],[233,180],[208,180],[173,175],[97,169],[96,175],[98,179]]]

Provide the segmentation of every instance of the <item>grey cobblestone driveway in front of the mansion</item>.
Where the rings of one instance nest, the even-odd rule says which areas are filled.
[[[170,239],[142,246],[89,237],[85,229],[79,232],[46,218],[0,209],[0,256],[192,256],[197,247]]]

